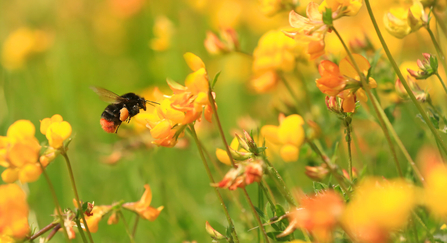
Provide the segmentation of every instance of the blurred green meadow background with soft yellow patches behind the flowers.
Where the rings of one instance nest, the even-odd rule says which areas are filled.
[[[306,6],[306,2],[302,1],[301,6]],[[27,119],[36,126],[39,141],[46,143],[45,136],[38,132],[39,120],[54,114],[62,115],[73,127],[73,141],[68,154],[81,200],[94,201],[95,205],[109,205],[120,200],[138,201],[143,185],[148,183],[153,192],[151,206],[163,205],[165,209],[154,222],[139,221],[136,242],[208,242],[210,237],[205,232],[205,221],[224,232],[226,219],[209,186],[193,141],[186,135],[181,148],[148,146],[142,142],[148,136],[147,131],[136,132],[139,130],[134,129],[132,122],[123,124],[118,134],[105,133],[99,119],[107,104],[89,87],[104,87],[121,95],[127,92],[141,94],[145,89],[158,86],[170,94],[166,78],[183,84],[190,73],[183,54],[193,52],[204,60],[211,78],[222,71],[215,91],[227,139],[232,139],[235,129],[241,131],[241,128],[248,127],[256,130],[264,124],[277,125],[279,112],[291,113],[280,104],[284,100],[282,98],[288,96],[283,87],[274,93],[255,94],[247,85],[251,76],[250,57],[241,53],[213,57],[203,45],[207,30],[232,27],[239,34],[241,49],[252,53],[262,34],[287,27],[287,11],[265,17],[259,8],[256,0],[0,1],[0,43],[3,47],[1,134],[6,134],[14,121]],[[299,8],[300,11],[304,9]],[[349,26],[341,29],[349,32]],[[403,45],[402,42],[396,45],[399,43]],[[406,44],[411,45],[411,40]],[[413,54],[399,57],[401,60],[421,58],[422,51],[418,52],[417,48]],[[340,57],[335,56],[334,59]],[[304,85],[307,85],[313,101],[314,118],[327,140],[323,146],[331,152],[334,141],[340,141],[343,145],[337,150],[337,156],[340,166],[346,167],[343,128],[326,111],[324,95],[313,85],[318,73],[315,65],[310,66],[310,70],[303,71],[308,80]],[[379,85],[394,84],[394,77],[388,71],[378,72],[381,72],[381,79],[376,79]],[[296,90],[302,85],[301,82],[293,83]],[[383,94],[386,94],[388,91],[384,90]],[[399,111],[400,123],[395,121],[396,130],[408,151],[415,156],[418,149],[427,143],[427,136],[423,124],[415,118],[413,106],[401,104],[400,107],[403,108]],[[383,135],[377,132],[377,123],[368,121],[371,117],[365,110],[359,113],[354,121],[354,129],[359,127],[355,139],[363,146],[360,150],[368,154],[359,153],[359,148],[356,148],[356,166],[363,169],[368,165],[368,172],[374,175],[396,176]],[[256,125],[244,126],[244,122]],[[223,148],[216,127],[204,124],[199,132],[215,160],[215,149]],[[108,156],[117,150],[122,152],[117,163],[103,163],[111,159]],[[272,160],[290,187],[310,191],[312,182],[305,177],[304,166],[317,158],[309,155],[307,147],[303,148],[300,156],[303,159],[295,163],[284,163],[276,157]],[[219,167],[224,172],[229,169],[223,164]],[[215,179],[220,180],[216,169],[212,170]],[[47,171],[62,207],[73,208],[73,192],[62,158],[52,162]],[[31,227],[42,228],[52,221],[54,210],[48,185],[41,177],[28,187]],[[257,203],[257,187],[248,186],[248,191]],[[241,209],[229,197],[234,194],[221,192],[241,242],[255,241],[257,234],[248,232],[255,221],[245,199],[240,196]],[[276,189],[274,193],[285,205]],[[135,215],[125,215],[132,226]],[[245,215],[248,215],[248,221]],[[128,241],[122,222],[107,225],[106,221],[107,218],[102,220],[98,232],[93,234],[96,242]],[[54,242],[62,240],[62,234],[54,238]],[[74,242],[81,242],[80,237],[77,236]]]

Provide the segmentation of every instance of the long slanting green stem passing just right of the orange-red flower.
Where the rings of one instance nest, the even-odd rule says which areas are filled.
[[[366,81],[366,78],[365,78],[365,76],[363,75],[362,71],[360,71],[360,68],[358,67],[357,62],[355,61],[354,57],[352,56],[351,51],[350,51],[349,48],[346,46],[345,42],[343,41],[343,38],[342,38],[342,37],[340,36],[340,34],[338,33],[337,29],[335,29],[335,28],[332,28],[332,29],[334,30],[334,32],[335,32],[335,34],[337,35],[338,39],[340,40],[341,44],[342,44],[343,47],[345,48],[346,53],[348,54],[349,58],[351,59],[352,64],[353,64],[355,70],[357,71],[357,73],[358,73],[358,75],[359,75],[359,77],[360,77],[360,80],[361,80],[361,82],[362,82],[362,88],[363,88],[363,90],[365,90],[366,95],[368,96],[368,98],[369,98],[370,100],[372,100],[372,99],[373,99],[373,95],[371,94],[371,89],[369,88],[369,86],[368,86],[368,82]],[[395,163],[396,168],[397,168],[397,172],[399,173],[399,176],[400,176],[400,177],[403,177],[402,169],[400,168],[399,160],[397,159],[396,150],[394,149],[394,144],[393,144],[393,142],[391,141],[389,131],[388,131],[387,127],[385,126],[385,122],[384,122],[384,120],[386,120],[386,119],[388,119],[388,118],[387,118],[386,116],[383,117],[383,116],[380,115],[380,111],[379,111],[379,110],[382,110],[382,108],[379,108],[378,105],[377,105],[377,103],[372,102],[372,104],[373,104],[374,111],[375,111],[376,114],[377,114],[377,118],[379,119],[380,127],[382,128],[382,131],[383,131],[383,133],[385,134],[385,138],[386,138],[386,140],[387,140],[387,142],[388,142],[388,146],[390,147],[391,154],[393,155],[393,159],[394,159],[394,163]]]

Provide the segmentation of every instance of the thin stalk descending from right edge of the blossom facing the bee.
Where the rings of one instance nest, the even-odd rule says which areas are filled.
[[[236,164],[234,163],[233,156],[231,155],[231,152],[230,152],[230,146],[227,143],[227,139],[225,138],[225,134],[223,132],[222,125],[220,123],[219,114],[217,113],[217,108],[216,108],[216,101],[214,100],[214,97],[213,97],[213,94],[212,94],[212,90],[211,90],[211,86],[208,89],[208,98],[209,98],[209,101],[211,103],[211,107],[213,109],[214,117],[216,118],[216,123],[217,123],[217,126],[219,128],[220,137],[222,138],[222,142],[225,145],[225,149],[227,151],[228,158],[230,158],[231,165],[234,168],[236,168]],[[250,204],[250,207],[251,207],[251,209],[253,211],[253,214],[255,215],[256,220],[259,223],[259,227],[262,230],[262,234],[264,235],[265,242],[267,242],[267,243],[270,242],[269,238],[267,236],[267,233],[265,232],[264,226],[262,225],[261,219],[259,218],[259,215],[256,212],[256,209],[254,208],[253,203],[251,202],[250,196],[248,195],[248,193],[245,190],[245,188],[242,188],[242,190],[244,191],[244,195],[245,195],[248,203]]]

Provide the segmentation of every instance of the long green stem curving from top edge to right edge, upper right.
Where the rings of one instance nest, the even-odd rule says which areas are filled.
[[[442,150],[447,153],[447,146],[442,141],[442,138],[439,134],[439,132],[436,130],[436,128],[431,123],[430,119],[428,118],[427,114],[425,113],[424,109],[422,109],[422,106],[419,104],[419,102],[416,100],[416,97],[414,96],[413,92],[411,91],[410,87],[408,86],[407,81],[403,77],[402,73],[399,70],[399,67],[396,64],[396,61],[394,60],[393,56],[391,55],[390,50],[388,49],[388,46],[386,45],[385,40],[383,39],[382,33],[379,30],[379,26],[377,25],[376,19],[374,17],[374,14],[371,9],[371,5],[369,3],[369,0],[365,0],[366,8],[368,9],[369,16],[371,18],[371,21],[374,25],[374,29],[376,30],[377,36],[379,37],[380,43],[382,44],[383,49],[385,50],[385,53],[388,57],[388,59],[391,62],[391,65],[394,68],[394,71],[396,72],[397,76],[399,77],[400,81],[402,82],[402,85],[405,87],[405,90],[407,91],[408,95],[410,96],[410,99],[413,101],[414,105],[418,109],[419,113],[421,114],[422,118],[424,119],[425,123],[427,124],[430,131],[435,136],[435,139],[440,143]]]

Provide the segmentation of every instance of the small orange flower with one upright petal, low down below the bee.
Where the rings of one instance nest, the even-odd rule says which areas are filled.
[[[144,185],[144,188],[146,189],[143,193],[143,196],[141,197],[140,201],[138,202],[131,202],[131,203],[125,203],[123,204],[123,208],[134,211],[140,217],[143,219],[147,219],[149,221],[154,221],[157,219],[158,215],[160,214],[161,210],[163,210],[163,206],[160,206],[158,208],[153,208],[150,206],[152,201],[152,192],[149,185]]]

